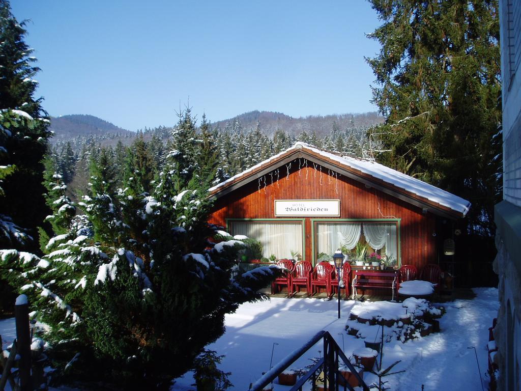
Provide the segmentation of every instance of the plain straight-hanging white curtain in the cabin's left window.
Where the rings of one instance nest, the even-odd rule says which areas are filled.
[[[291,251],[303,256],[302,223],[234,221],[231,234],[246,235],[260,241],[266,258],[271,254],[277,259],[291,258]]]

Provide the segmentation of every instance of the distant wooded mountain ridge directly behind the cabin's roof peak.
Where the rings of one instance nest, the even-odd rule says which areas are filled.
[[[298,135],[302,131],[310,134],[315,132],[317,136],[327,135],[331,130],[345,130],[353,128],[368,128],[382,123],[384,118],[377,112],[354,114],[331,114],[326,116],[307,116],[293,118],[289,115],[277,112],[253,111],[235,116],[230,119],[217,121],[212,124],[220,130],[234,130],[237,127],[252,129],[260,124],[267,136],[272,136],[281,129],[292,135]]]

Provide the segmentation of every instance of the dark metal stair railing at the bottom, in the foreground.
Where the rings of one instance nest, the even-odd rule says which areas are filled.
[[[273,382],[281,372],[301,358],[321,339],[324,343],[324,357],[321,357],[306,373],[300,376],[290,391],[302,391],[303,385],[310,379],[312,381],[312,389],[316,390],[317,373],[321,374],[321,372],[324,374],[323,385],[320,385],[321,389],[324,389],[325,391],[339,391],[339,387],[341,387],[340,389],[343,389],[344,391],[348,389],[353,391],[353,387],[345,381],[340,373],[339,365],[347,366],[352,375],[357,378],[358,385],[362,386],[364,391],[369,391],[369,387],[364,383],[362,376],[360,376],[358,371],[355,370],[353,364],[338,346],[337,341],[334,340],[329,332],[324,330],[315,334],[315,336],[309,339],[304,346],[290,353],[281,362],[266,372],[251,386],[249,391],[262,391],[263,388]],[[339,382],[339,379],[341,379],[341,382]],[[343,385],[340,385],[339,383],[342,383]]]

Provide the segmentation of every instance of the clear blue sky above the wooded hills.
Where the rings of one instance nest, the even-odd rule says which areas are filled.
[[[379,25],[363,0],[11,0],[52,116],[129,130],[252,110],[293,117],[376,111],[364,56]]]

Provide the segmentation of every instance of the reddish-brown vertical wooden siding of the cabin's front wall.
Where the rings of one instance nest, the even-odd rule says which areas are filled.
[[[273,177],[269,174],[254,180],[216,200],[209,222],[226,226],[227,218],[275,218],[275,200],[340,199],[340,217],[356,219],[400,218],[400,245],[402,264],[421,268],[436,263],[436,216],[422,214],[417,206],[389,196],[374,188],[341,176],[322,167],[322,172],[308,163],[298,168],[292,164],[290,174],[286,166],[279,167]],[[274,173],[274,172],[272,172]],[[266,184],[265,184],[266,180]],[[301,217],[295,217],[300,219]],[[317,217],[321,218],[321,217]],[[304,259],[312,260],[311,218],[305,219]]]

